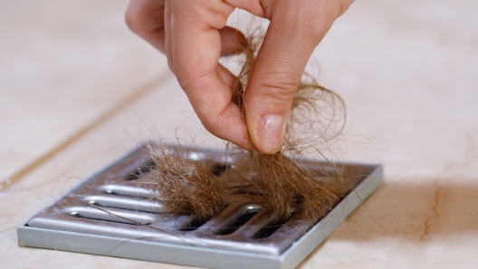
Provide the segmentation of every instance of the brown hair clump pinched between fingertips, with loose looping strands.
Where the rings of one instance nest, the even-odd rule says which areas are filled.
[[[243,69],[234,85],[234,102],[243,111],[245,88],[261,41],[261,36],[250,38],[250,46],[244,48]],[[340,176],[332,179],[329,174],[320,181],[310,169],[301,166],[301,162],[292,161],[292,158],[301,159],[306,148],[311,147],[312,140],[325,143],[338,135],[344,125],[343,112],[344,104],[338,95],[304,74],[292,101],[282,150],[274,154],[263,154],[255,148],[248,153],[244,151],[249,158],[237,169],[249,170],[256,175],[257,179],[249,179],[249,182],[265,194],[263,206],[276,218],[289,218],[297,208],[311,218],[321,218],[345,194],[346,188]],[[312,135],[318,137],[312,138]],[[248,138],[252,144],[250,136]]]

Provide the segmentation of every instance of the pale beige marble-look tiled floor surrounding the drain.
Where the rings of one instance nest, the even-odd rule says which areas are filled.
[[[155,267],[17,246],[15,227],[140,141],[221,146],[166,58],[129,32],[128,1],[0,1],[0,267]],[[311,58],[344,98],[341,161],[385,182],[301,268],[468,267],[478,240],[478,2],[362,0]],[[231,15],[245,31],[251,16]],[[65,180],[66,179],[66,180]],[[62,184],[60,184],[62,185]],[[72,264],[73,263],[73,264]]]

